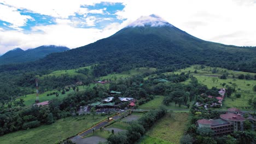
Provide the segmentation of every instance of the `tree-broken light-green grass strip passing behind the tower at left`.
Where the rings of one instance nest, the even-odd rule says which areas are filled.
[[[101,84],[91,83],[88,86],[78,86],[78,87],[79,87],[79,91],[84,91],[85,89],[92,88],[95,85],[101,85]],[[102,86],[106,86],[107,87],[108,84],[105,84],[105,85],[102,85]],[[54,99],[54,98],[57,98],[57,99],[61,100],[61,99],[65,98],[65,97],[67,97],[68,94],[75,93],[73,91],[73,89],[70,89],[70,91],[66,92],[65,94],[61,94],[61,93],[58,92],[59,93],[59,97],[56,97],[55,94],[47,96],[47,94],[53,93],[53,92],[57,92],[57,90],[55,90],[55,91],[48,91],[48,92],[39,94],[40,102],[43,102],[43,101],[46,101],[46,100],[51,100],[51,99]],[[24,99],[24,104],[26,106],[31,106],[31,105],[33,105],[35,103],[34,100],[36,100],[36,93],[23,95],[21,97],[16,98],[17,101],[19,101],[20,99]]]

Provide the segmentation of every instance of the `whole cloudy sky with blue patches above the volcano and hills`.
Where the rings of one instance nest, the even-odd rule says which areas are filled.
[[[203,40],[256,46],[256,0],[0,0],[0,54],[41,45],[73,49],[151,14]]]

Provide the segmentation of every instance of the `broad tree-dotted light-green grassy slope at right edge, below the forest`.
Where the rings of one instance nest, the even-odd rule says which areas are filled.
[[[239,80],[239,79],[232,79],[231,77],[228,77],[228,79],[226,79],[226,80],[218,79],[217,82],[213,83],[212,75],[220,76],[224,70],[229,72],[229,76],[234,74],[235,77],[237,77],[240,74],[244,74],[244,75],[250,74],[251,76],[254,76],[255,74],[254,73],[246,73],[246,72],[242,72],[242,71],[232,71],[232,70],[227,70],[227,69],[222,69],[222,68],[217,68],[219,72],[216,74],[212,74],[211,73],[212,69],[213,68],[211,68],[211,67],[206,67],[205,69],[197,69],[197,74],[194,74],[194,71],[195,71],[195,66],[194,66],[194,67],[189,67],[186,69],[179,70],[176,73],[181,73],[182,71],[188,72],[190,70],[191,72],[193,72],[192,75],[195,76],[200,83],[206,85],[208,88],[212,88],[212,87],[222,88],[222,86],[220,84],[222,84],[224,82],[229,86],[232,86],[231,83],[236,83],[236,85],[237,85],[236,93],[241,93],[242,97],[236,98],[235,97],[236,93],[233,93],[231,95],[231,97],[224,99],[222,108],[228,109],[230,107],[237,107],[238,109],[247,110],[249,107],[249,105],[247,104],[247,100],[253,96],[255,97],[255,95],[256,95],[256,92],[253,92],[253,90],[252,90],[253,86],[256,85],[256,81],[255,80]],[[189,81],[185,81],[184,83],[189,83]],[[240,88],[241,90],[238,90],[238,88]]]

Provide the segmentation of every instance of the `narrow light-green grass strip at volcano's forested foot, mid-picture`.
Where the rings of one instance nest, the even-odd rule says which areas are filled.
[[[124,79],[126,77],[131,77],[133,75],[139,75],[144,73],[150,74],[150,73],[153,73],[154,71],[156,71],[156,68],[136,68],[129,71],[124,71],[123,73],[120,73],[120,74],[109,74],[107,76],[102,76],[102,77],[99,77],[98,80],[111,79],[113,81],[117,79]]]

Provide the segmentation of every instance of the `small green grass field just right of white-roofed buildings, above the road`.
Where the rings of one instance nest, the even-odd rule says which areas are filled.
[[[138,109],[142,110],[151,110],[151,109],[158,109],[162,104],[162,100],[164,99],[164,96],[162,95],[156,95],[153,100],[148,101],[147,103],[143,105],[139,105]],[[190,105],[193,104],[193,101],[190,103]],[[181,107],[178,106],[178,104],[175,106],[175,103],[170,103],[169,106],[166,106],[167,109],[188,109],[187,106],[181,105]]]

